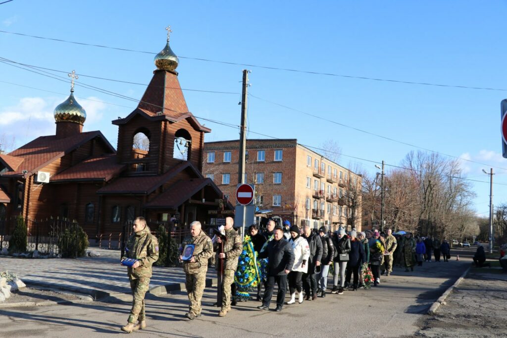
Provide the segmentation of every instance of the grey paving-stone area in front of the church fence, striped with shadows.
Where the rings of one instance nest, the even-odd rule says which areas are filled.
[[[0,256],[0,270],[15,273],[27,286],[50,286],[63,290],[87,293],[94,298],[130,293],[127,268],[120,265],[120,251],[91,248],[100,257],[66,258],[13,258]],[[216,278],[213,267],[208,268],[208,284]],[[150,282],[152,293],[166,288],[183,289],[185,273],[180,267],[153,267]]]

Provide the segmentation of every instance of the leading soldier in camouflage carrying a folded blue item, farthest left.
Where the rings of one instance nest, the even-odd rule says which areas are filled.
[[[127,268],[130,288],[132,289],[132,309],[128,317],[128,324],[122,326],[122,331],[130,333],[146,327],[146,313],[144,312],[144,294],[150,286],[152,277],[152,264],[159,256],[157,238],[152,235],[144,217],[137,217],[133,224],[134,232],[130,235],[125,258],[138,261]],[[138,320],[137,324],[134,324]]]

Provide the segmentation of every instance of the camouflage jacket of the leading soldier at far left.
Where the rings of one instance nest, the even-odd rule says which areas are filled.
[[[135,269],[128,267],[129,275],[134,277],[152,277],[152,264],[158,260],[158,240],[147,226],[139,232],[133,232],[127,242],[124,258],[139,260]]]

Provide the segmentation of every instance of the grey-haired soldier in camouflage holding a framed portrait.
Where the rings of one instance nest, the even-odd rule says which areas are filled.
[[[191,238],[183,241],[180,253],[187,244],[194,244],[192,259],[183,262],[183,271],[186,274],[185,287],[189,296],[189,312],[185,316],[193,320],[201,315],[201,298],[206,285],[206,272],[208,271],[208,259],[213,255],[211,239],[202,231],[201,222],[195,221],[190,224]],[[182,255],[179,256],[182,259]]]

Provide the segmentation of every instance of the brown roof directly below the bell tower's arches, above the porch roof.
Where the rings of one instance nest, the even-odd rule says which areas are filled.
[[[179,172],[185,168],[191,167],[193,171],[202,178],[197,168],[189,161],[184,161],[167,171],[163,175],[154,176],[129,176],[120,177],[111,184],[97,190],[99,195],[105,194],[134,194],[134,195],[147,195],[160,187],[165,182],[169,181]]]

